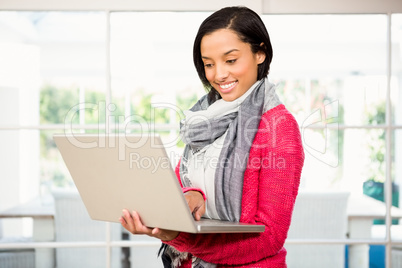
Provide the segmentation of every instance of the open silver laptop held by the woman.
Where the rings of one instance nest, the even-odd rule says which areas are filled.
[[[93,220],[137,211],[148,227],[189,233],[263,232],[264,225],[195,221],[158,135],[54,135]]]

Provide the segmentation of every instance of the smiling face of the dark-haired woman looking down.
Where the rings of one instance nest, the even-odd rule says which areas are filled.
[[[263,52],[253,53],[251,46],[228,29],[205,35],[201,40],[205,76],[225,101],[242,96],[256,81]]]

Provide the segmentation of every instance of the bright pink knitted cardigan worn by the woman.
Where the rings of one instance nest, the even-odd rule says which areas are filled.
[[[268,110],[261,118],[250,149],[240,219],[240,222],[262,223],[265,231],[258,234],[180,233],[177,238],[163,242],[216,263],[218,267],[286,267],[283,245],[303,162],[302,140],[294,117],[282,104]],[[179,165],[176,174],[179,178]],[[182,262],[181,267],[191,267],[191,258]]]

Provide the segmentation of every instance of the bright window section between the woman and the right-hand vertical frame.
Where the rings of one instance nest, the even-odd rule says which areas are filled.
[[[360,193],[364,181],[384,181],[385,165],[371,155],[384,159],[384,127],[372,127],[385,124],[386,16],[264,20],[274,48],[271,79],[302,127],[302,187]]]

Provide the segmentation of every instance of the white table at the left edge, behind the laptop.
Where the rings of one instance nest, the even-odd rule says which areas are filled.
[[[0,212],[0,218],[32,218],[33,240],[36,242],[54,241],[54,203],[36,198],[28,203]],[[35,249],[35,267],[54,267],[54,249]]]

